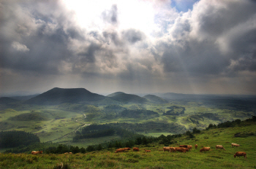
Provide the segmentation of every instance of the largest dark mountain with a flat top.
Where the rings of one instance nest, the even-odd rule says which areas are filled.
[[[28,104],[57,105],[61,103],[79,103],[81,101],[100,101],[104,95],[91,93],[83,88],[62,89],[55,87],[45,93],[25,101]]]

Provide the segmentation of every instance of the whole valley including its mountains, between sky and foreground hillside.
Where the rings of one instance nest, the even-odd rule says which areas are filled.
[[[75,133],[91,124],[115,125],[134,133],[159,136],[185,133],[195,127],[203,130],[209,124],[244,120],[256,114],[255,98],[174,96],[103,96],[85,89],[53,88],[25,101],[0,99],[0,130],[22,130],[36,134],[41,142],[86,147],[120,139],[115,134],[74,142]]]

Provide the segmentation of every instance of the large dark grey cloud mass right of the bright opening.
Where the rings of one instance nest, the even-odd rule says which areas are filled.
[[[157,44],[156,49],[164,51],[164,71],[191,76],[255,71],[255,5],[249,1],[200,1],[195,11],[178,17],[170,27],[172,40]]]

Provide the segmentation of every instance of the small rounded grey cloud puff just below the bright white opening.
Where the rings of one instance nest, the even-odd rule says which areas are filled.
[[[133,28],[124,31],[123,36],[124,36],[124,39],[127,39],[127,41],[130,44],[135,44],[136,42],[143,40],[145,37],[143,32],[135,30]]]

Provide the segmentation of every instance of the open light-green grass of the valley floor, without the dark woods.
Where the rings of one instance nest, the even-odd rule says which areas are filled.
[[[200,113],[212,113],[217,114],[220,119],[233,120],[233,119],[246,119],[250,117],[249,114],[253,112],[236,111],[230,109],[218,109],[209,107],[203,103],[196,102],[183,102],[183,101],[172,101],[171,103],[165,104],[154,104],[148,103],[143,105],[132,104],[121,104],[127,109],[147,109],[155,111],[159,114],[159,117],[148,118],[148,119],[134,119],[134,118],[121,118],[116,117],[116,112],[105,113],[105,104],[98,106],[88,106],[80,104],[64,103],[59,106],[33,106],[33,105],[11,105],[0,111],[0,130],[25,130],[26,132],[35,133],[39,136],[41,142],[52,141],[54,143],[66,143],[73,146],[84,146],[91,144],[104,143],[106,139],[91,139],[86,141],[80,141],[78,143],[72,142],[72,137],[76,130],[79,130],[85,124],[105,124],[105,123],[132,123],[132,124],[145,124],[146,122],[157,122],[159,124],[173,123],[180,125],[178,130],[164,130],[166,128],[151,128],[146,130],[147,133],[141,132],[143,135],[168,135],[171,133],[184,133],[186,130],[192,130],[197,127],[198,129],[204,129],[208,127],[210,123],[218,124],[220,121],[214,121],[203,117],[202,119],[195,119],[193,115]],[[162,116],[163,110],[168,111],[167,107],[179,106],[185,107],[185,114],[182,116]],[[79,108],[79,109],[78,109]],[[86,110],[83,110],[86,108]],[[97,112],[94,112],[97,111]],[[45,121],[20,121],[11,120],[13,117],[20,116],[24,117],[24,114],[30,114],[31,112],[38,112],[49,120]],[[97,115],[95,115],[97,113]],[[86,114],[84,118],[83,114]],[[112,116],[110,116],[112,115]],[[197,122],[192,122],[192,120]],[[159,133],[156,133],[158,131]],[[170,133],[169,133],[170,132]]]

